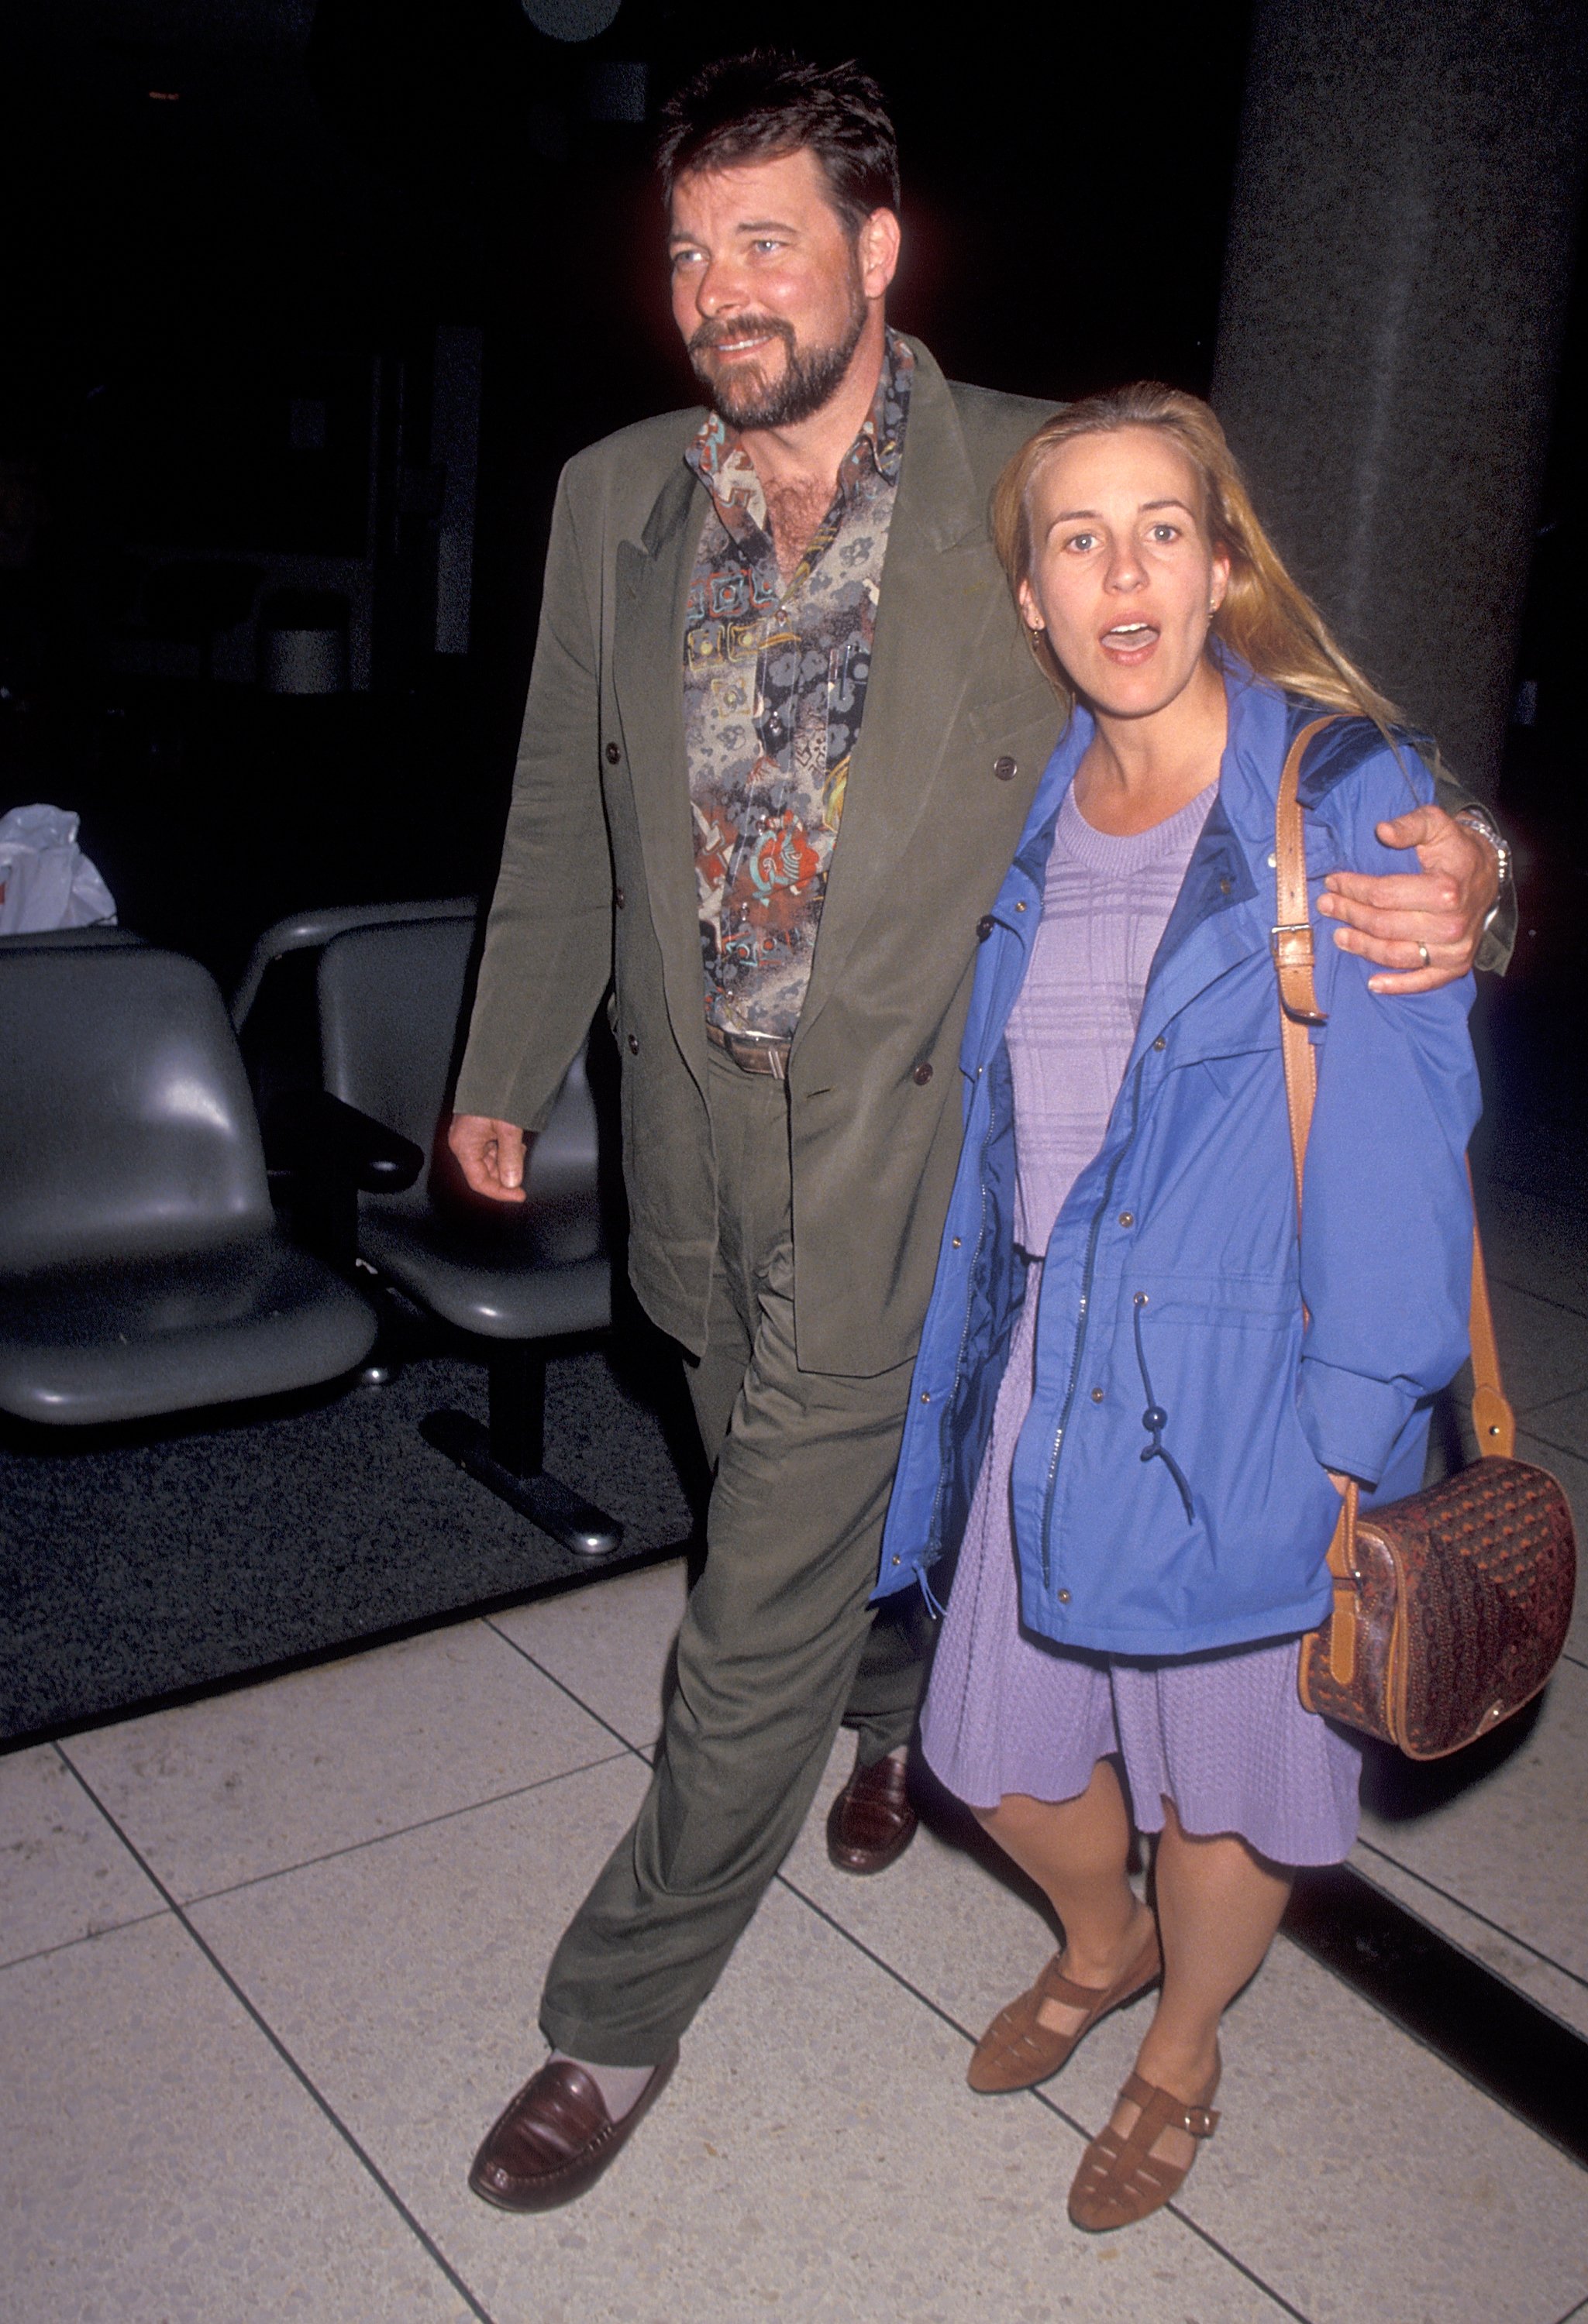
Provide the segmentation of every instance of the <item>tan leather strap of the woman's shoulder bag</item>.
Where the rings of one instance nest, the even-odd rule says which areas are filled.
[[[1335,718],[1314,718],[1300,730],[1286,753],[1274,806],[1274,967],[1279,971],[1279,1050],[1286,1067],[1286,1113],[1290,1118],[1290,1162],[1295,1169],[1295,1227],[1302,1227],[1302,1181],[1307,1171],[1307,1134],[1318,1095],[1318,1060],[1307,1039],[1309,1025],[1325,1025],[1314,985],[1311,918],[1307,911],[1307,839],[1302,830],[1300,779],[1307,746]],[[1488,1271],[1476,1218],[1472,1222],[1472,1427],[1479,1452],[1511,1457],[1516,1415],[1500,1385],[1500,1348],[1488,1304]],[[1355,1671],[1355,1483],[1346,1485],[1339,1525],[1330,1541],[1330,1578],[1335,1583],[1335,1618],[1330,1622],[1330,1678],[1351,1685]]]

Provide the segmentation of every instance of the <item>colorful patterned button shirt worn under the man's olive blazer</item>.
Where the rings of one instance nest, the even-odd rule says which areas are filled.
[[[711,411],[684,458],[711,504],[684,625],[684,734],[707,1018],[791,1037],[860,734],[914,356],[888,332],[832,507],[784,586],[767,502]]]

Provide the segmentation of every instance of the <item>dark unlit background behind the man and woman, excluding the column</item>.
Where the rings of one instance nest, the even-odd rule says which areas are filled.
[[[565,42],[518,0],[12,5],[0,809],[77,809],[128,923],[230,974],[281,911],[488,883],[558,465],[693,400],[637,114],[784,23],[623,0]],[[1242,0],[918,23],[797,19],[807,53],[858,49],[895,105],[897,321],[1032,395],[1204,390]],[[467,653],[435,651],[437,325],[484,351]],[[1562,414],[1583,365],[1576,314]],[[1523,823],[1576,816],[1546,737],[1569,718],[1586,479],[1576,432],[1553,444]],[[367,686],[272,695],[260,607],[328,576]]]

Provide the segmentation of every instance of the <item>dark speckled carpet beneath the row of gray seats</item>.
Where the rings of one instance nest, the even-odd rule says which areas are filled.
[[[484,1420],[484,1369],[421,1355],[388,1387],[188,1425],[0,1434],[0,1738],[226,1683],[488,1599],[584,1583],[691,1529],[653,1357],[556,1357],[546,1466],[625,1525],[581,1559],[419,1434]],[[663,1418],[665,1415],[665,1418]],[[672,1432],[672,1439],[670,1439]]]

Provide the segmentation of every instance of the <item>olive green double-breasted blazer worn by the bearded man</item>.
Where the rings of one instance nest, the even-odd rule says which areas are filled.
[[[977,923],[1058,737],[988,530],[997,472],[1049,407],[951,386],[911,349],[865,720],[788,1060],[807,1371],[914,1357],[960,1148]],[[716,1248],[681,676],[698,425],[642,421],[563,472],[456,1095],[460,1113],[542,1127],[611,988],[630,1274],[695,1353]]]

